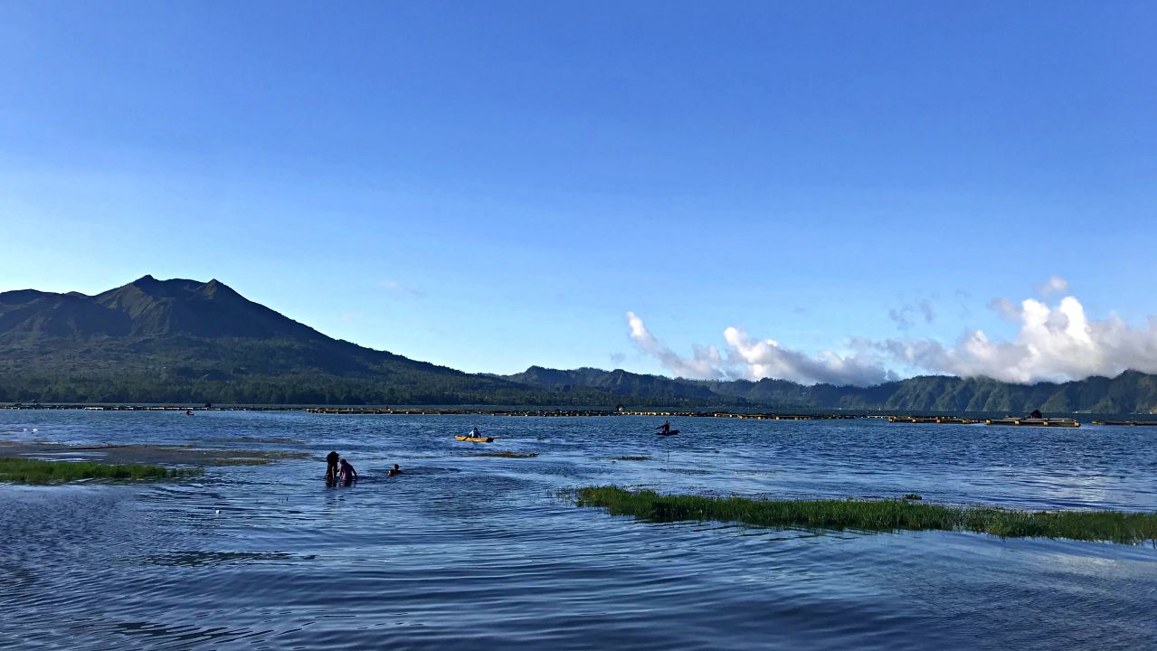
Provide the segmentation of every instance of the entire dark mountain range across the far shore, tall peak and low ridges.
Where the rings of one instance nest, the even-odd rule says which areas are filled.
[[[0,401],[1152,413],[1157,376],[1032,385],[928,376],[855,387],[589,368],[472,375],[332,339],[216,280],[146,275],[96,296],[0,294]]]

